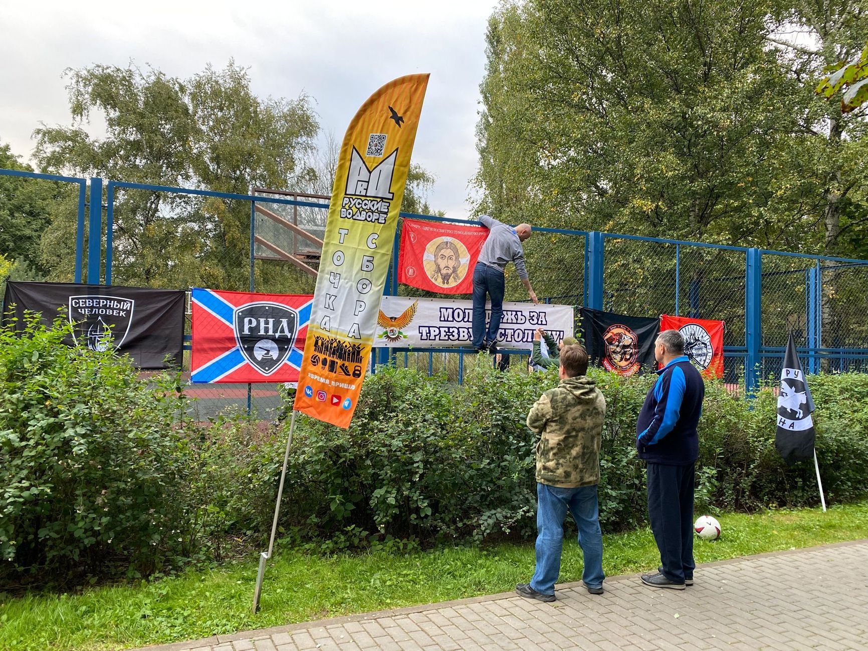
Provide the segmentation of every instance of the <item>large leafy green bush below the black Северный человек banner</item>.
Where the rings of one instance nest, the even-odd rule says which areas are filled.
[[[152,571],[189,551],[184,398],[171,376],[63,345],[69,328],[0,332],[0,571]]]

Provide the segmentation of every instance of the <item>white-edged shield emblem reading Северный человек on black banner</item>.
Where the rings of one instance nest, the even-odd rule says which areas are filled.
[[[120,296],[70,296],[67,318],[76,345],[93,351],[117,350],[127,339],[135,300]]]

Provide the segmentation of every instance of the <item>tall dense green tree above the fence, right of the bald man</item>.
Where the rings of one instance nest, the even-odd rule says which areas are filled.
[[[528,0],[492,17],[483,204],[550,225],[764,238],[794,85],[765,0]],[[516,201],[519,200],[519,201]],[[498,205],[499,204],[499,205]]]

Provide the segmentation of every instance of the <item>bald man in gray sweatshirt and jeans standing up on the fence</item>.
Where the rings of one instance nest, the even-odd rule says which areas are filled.
[[[489,235],[479,253],[477,266],[473,269],[473,347],[479,352],[488,351],[493,355],[497,352],[497,331],[500,330],[500,319],[503,317],[503,293],[506,289],[503,272],[510,262],[515,264],[518,277],[528,288],[530,299],[534,303],[539,301],[534,288],[530,286],[528,270],[524,267],[522,242],[530,237],[530,225],[519,224],[513,228],[487,214],[483,214],[479,220],[489,229]],[[491,299],[491,320],[486,330],[487,298]]]

